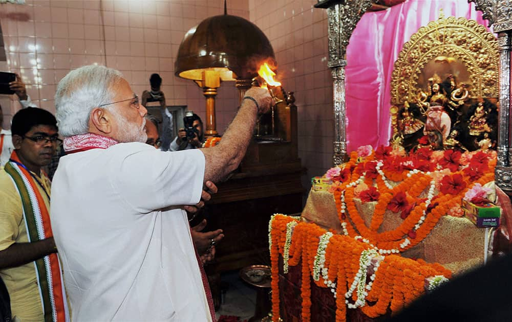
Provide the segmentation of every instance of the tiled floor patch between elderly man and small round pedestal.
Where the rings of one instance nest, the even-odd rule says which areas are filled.
[[[222,282],[227,290],[222,294],[222,305],[216,312],[217,318],[221,315],[240,316],[244,321],[254,315],[256,305],[256,290],[242,281],[238,271],[222,273]]]

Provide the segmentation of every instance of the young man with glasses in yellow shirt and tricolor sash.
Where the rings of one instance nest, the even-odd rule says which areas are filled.
[[[50,223],[50,179],[42,171],[59,144],[57,121],[28,107],[12,118],[14,151],[0,171],[0,277],[13,317],[69,320]]]

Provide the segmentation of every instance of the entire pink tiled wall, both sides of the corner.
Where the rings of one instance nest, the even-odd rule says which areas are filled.
[[[332,80],[327,67],[327,16],[315,0],[230,0],[228,13],[249,19],[269,38],[278,77],[295,92],[299,153],[309,179],[331,166]],[[205,100],[191,81],[174,76],[174,61],[186,31],[223,13],[223,0],[27,0],[0,5],[8,70],[20,73],[39,106],[54,111],[58,81],[83,64],[99,63],[123,72],[139,95],[152,73],[163,78],[169,105],[188,105],[204,118]],[[223,83],[217,97],[217,129],[236,112],[238,93]],[[8,125],[19,108],[4,107]],[[7,126],[8,127],[8,126]]]

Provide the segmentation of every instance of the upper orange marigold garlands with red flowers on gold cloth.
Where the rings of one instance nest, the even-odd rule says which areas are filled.
[[[406,156],[391,147],[369,149],[363,155],[352,152],[348,163],[326,173],[333,182],[330,191],[343,234],[368,243],[379,254],[399,254],[416,246],[443,215],[462,214],[461,200],[472,187],[494,181],[493,153],[421,148]],[[356,195],[361,185],[371,186]],[[422,197],[424,191],[426,198]],[[370,226],[356,208],[357,197],[363,202],[377,202]],[[400,213],[403,222],[392,231],[378,233],[387,210]]]

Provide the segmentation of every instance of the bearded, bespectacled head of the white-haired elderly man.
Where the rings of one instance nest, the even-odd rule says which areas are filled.
[[[77,68],[55,94],[62,136],[96,133],[118,142],[146,142],[147,110],[119,71],[99,65]]]

